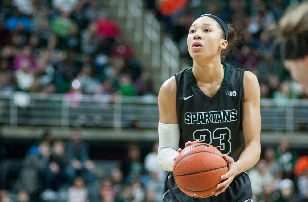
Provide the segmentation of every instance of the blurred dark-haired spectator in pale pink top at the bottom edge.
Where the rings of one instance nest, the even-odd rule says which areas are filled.
[[[82,177],[76,177],[68,188],[67,202],[87,202],[88,190]]]

